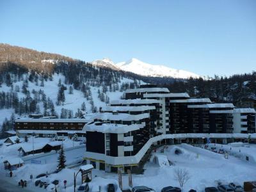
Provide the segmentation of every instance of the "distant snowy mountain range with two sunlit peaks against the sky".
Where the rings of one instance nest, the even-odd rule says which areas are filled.
[[[93,65],[109,67],[114,70],[124,70],[127,72],[132,72],[140,76],[147,77],[173,77],[177,79],[188,79],[189,77],[199,78],[198,74],[193,72],[188,72],[186,70],[179,70],[175,68],[166,67],[164,65],[152,65],[145,63],[136,58],[132,58],[126,62],[114,63],[108,58],[103,60],[96,60],[92,62]]]

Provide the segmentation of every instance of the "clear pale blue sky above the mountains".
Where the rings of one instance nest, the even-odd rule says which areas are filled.
[[[0,1],[0,42],[214,76],[256,70],[256,1]]]

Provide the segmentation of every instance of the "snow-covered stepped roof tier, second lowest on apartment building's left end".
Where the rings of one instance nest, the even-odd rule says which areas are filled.
[[[142,113],[138,115],[130,115],[128,113],[101,113],[93,116],[93,119],[100,120],[122,120],[122,121],[138,121],[143,118],[149,118],[149,113]]]

